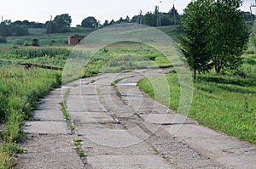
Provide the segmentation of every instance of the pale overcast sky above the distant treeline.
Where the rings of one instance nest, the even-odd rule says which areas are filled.
[[[250,0],[244,5],[249,10]],[[161,2],[161,3],[160,3]],[[0,17],[3,20],[29,20],[45,23],[50,15],[70,14],[72,25],[79,25],[84,18],[94,16],[102,23],[104,20],[119,20],[120,17],[132,17],[160,5],[161,12],[167,12],[174,3],[179,14],[191,0],[1,0]],[[254,0],[251,0],[253,3]]]

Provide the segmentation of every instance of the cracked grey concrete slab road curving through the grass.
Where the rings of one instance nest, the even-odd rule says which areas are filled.
[[[256,168],[255,146],[202,127],[138,89],[139,79],[166,72],[102,74],[62,87],[73,132],[56,89],[26,122],[17,168]]]

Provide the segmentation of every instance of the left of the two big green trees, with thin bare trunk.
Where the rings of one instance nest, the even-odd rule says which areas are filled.
[[[180,37],[180,47],[190,67],[196,72],[203,72],[212,68],[211,54],[208,48],[208,36],[210,25],[207,20],[210,18],[209,8],[211,0],[198,0],[189,3],[184,9],[186,17],[183,18],[183,37]]]

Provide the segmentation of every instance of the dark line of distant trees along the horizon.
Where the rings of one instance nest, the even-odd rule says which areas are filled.
[[[149,26],[165,26],[165,25],[179,25],[183,17],[183,14],[178,14],[177,9],[173,6],[168,13],[163,13],[159,11],[158,7],[154,8],[154,12],[148,12],[146,14],[137,14],[130,18],[120,17],[119,20],[105,20],[101,23],[96,20],[95,17],[89,16],[81,21],[81,25],[76,25],[77,27],[87,27],[87,28],[102,28],[108,25],[121,24],[121,23],[142,23],[143,25]],[[244,12],[244,20],[255,20],[254,14],[249,12]],[[28,28],[44,28],[47,33],[63,33],[70,31],[72,24],[72,18],[69,14],[56,15],[54,20],[49,20],[46,23],[30,22],[28,20],[16,20],[12,22],[11,20],[3,20],[0,24],[0,36],[26,36],[29,35]]]

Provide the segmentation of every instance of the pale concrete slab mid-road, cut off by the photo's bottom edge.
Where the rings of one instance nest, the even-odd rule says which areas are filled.
[[[88,163],[98,169],[172,168],[157,155],[96,155],[88,157]]]

